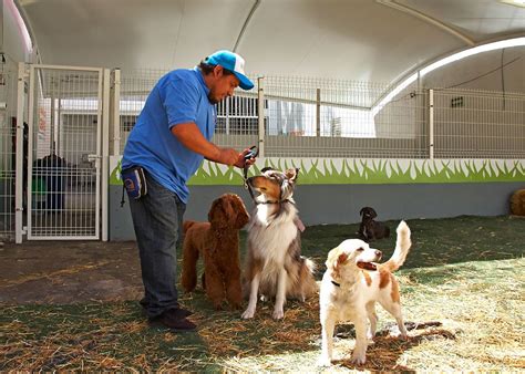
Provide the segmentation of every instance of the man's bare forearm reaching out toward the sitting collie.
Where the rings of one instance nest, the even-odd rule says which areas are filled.
[[[222,148],[208,142],[197,125],[193,122],[183,123],[172,127],[172,134],[189,150],[203,155],[206,159],[225,165],[235,165],[243,167],[245,164],[243,153],[238,153],[233,148]]]

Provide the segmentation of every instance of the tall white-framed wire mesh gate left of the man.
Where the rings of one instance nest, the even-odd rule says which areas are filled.
[[[28,239],[97,239],[101,70],[32,66]]]

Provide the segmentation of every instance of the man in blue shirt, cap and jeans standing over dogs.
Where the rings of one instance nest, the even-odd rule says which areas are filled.
[[[234,90],[251,90],[244,73],[244,59],[218,51],[193,69],[175,70],[157,82],[127,139],[122,159],[123,178],[130,196],[145,295],[141,304],[151,321],[175,331],[196,326],[179,308],[176,282],[177,231],[188,199],[187,179],[203,158],[245,166],[245,155],[210,143],[216,125],[215,104],[233,96]],[[251,165],[250,158],[246,163]],[[127,183],[126,170],[143,173],[144,184]],[[142,170],[141,170],[142,168]],[[135,175],[135,174],[134,174]],[[138,186],[138,187],[137,187]],[[136,198],[141,194],[144,196]]]

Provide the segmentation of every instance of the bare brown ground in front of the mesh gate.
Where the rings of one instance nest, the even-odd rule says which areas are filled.
[[[0,247],[0,303],[138,300],[134,241],[30,241]]]

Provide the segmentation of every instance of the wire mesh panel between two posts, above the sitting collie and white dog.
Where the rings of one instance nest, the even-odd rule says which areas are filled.
[[[424,157],[424,95],[385,84],[265,77],[266,156]]]

